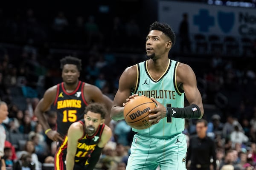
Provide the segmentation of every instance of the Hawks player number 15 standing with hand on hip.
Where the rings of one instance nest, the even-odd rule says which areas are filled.
[[[43,98],[35,108],[35,115],[43,126],[45,134],[53,141],[63,141],[68,127],[84,116],[84,109],[91,102],[105,105],[110,113],[113,101],[102,94],[95,85],[79,81],[81,59],[67,56],[60,60],[63,82],[47,89]],[[44,116],[51,106],[57,112],[57,130],[52,130]],[[106,125],[110,122],[110,115],[105,118]]]

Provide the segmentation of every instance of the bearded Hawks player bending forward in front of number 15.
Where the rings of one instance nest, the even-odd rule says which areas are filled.
[[[84,119],[70,125],[67,136],[55,154],[55,170],[93,170],[105,144],[112,136],[104,124],[105,107],[88,105]]]

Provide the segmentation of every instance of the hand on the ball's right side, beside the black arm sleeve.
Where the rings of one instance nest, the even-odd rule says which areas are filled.
[[[152,122],[152,124],[154,125],[157,124],[161,119],[166,117],[166,108],[160,102],[157,102],[157,100],[153,97],[151,97],[150,99],[157,104],[157,108],[148,111],[149,113],[155,113],[148,116],[148,122]]]

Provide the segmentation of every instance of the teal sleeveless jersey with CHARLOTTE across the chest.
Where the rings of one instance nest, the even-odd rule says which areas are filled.
[[[166,71],[158,79],[154,80],[147,68],[148,60],[138,63],[137,84],[132,94],[153,97],[166,107],[183,108],[184,92],[178,88],[176,83],[177,66],[179,62],[170,60]],[[143,130],[134,129],[143,136],[155,138],[168,138],[181,133],[185,128],[185,119],[163,118],[159,123]]]

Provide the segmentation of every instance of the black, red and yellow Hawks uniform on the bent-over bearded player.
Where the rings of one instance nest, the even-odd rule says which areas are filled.
[[[87,134],[85,133],[84,119],[81,119],[78,122],[80,122],[84,126],[84,134],[77,142],[75,164],[87,165],[87,160],[90,158],[90,155],[93,152],[94,148],[101,140],[105,124],[99,125],[93,136],[87,136]],[[65,136],[64,141],[62,142],[61,146],[58,148],[55,154],[55,161],[57,161],[55,164],[59,165],[60,167],[65,166],[63,160],[65,160],[67,156],[67,143],[68,138],[67,136]],[[56,169],[58,170],[58,167]]]

